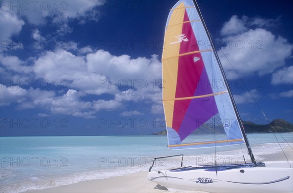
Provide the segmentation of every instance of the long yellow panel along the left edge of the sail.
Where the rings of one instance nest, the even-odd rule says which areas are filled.
[[[182,33],[182,25],[184,19],[184,3],[180,3],[175,9],[171,11],[170,19],[168,20],[166,30],[165,30],[165,44],[162,56],[162,68],[163,68],[163,79],[164,79],[164,89],[163,89],[163,99],[164,98],[174,98],[176,92],[176,82],[177,82],[177,71],[178,71],[178,58],[180,43],[178,41],[178,36]],[[179,23],[179,24],[178,24]],[[177,27],[168,28],[170,25],[177,25]],[[174,43],[175,42],[175,43]],[[174,53],[177,53],[177,57],[173,57]],[[172,57],[172,58],[171,58]],[[169,59],[165,59],[169,58]],[[174,110],[174,101],[170,101],[168,105],[164,104],[165,115],[167,126],[172,126],[172,117]]]

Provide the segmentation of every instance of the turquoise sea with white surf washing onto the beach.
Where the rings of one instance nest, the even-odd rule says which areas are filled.
[[[293,134],[276,134],[282,148]],[[284,137],[284,138],[283,138]],[[273,134],[248,134],[257,160],[281,151]],[[153,157],[184,154],[184,165],[243,161],[245,146],[174,150],[165,135],[0,137],[0,192],[45,189],[84,180],[148,171]],[[285,159],[285,158],[284,158]],[[155,167],[176,167],[180,158],[158,160]]]

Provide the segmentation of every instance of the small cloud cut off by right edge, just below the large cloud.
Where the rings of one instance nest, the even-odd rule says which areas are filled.
[[[284,67],[273,73],[272,84],[293,84],[293,66]]]

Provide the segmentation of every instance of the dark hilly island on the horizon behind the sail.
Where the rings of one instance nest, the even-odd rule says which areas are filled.
[[[284,119],[274,119],[271,123],[259,125],[250,121],[242,121],[246,133],[285,133],[293,132],[293,124]],[[167,130],[160,131],[151,135],[167,135]]]

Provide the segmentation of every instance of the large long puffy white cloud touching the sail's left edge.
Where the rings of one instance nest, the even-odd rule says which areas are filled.
[[[155,84],[161,77],[161,62],[157,55],[133,59],[127,55],[113,56],[104,50],[85,57],[65,50],[47,51],[35,61],[33,71],[36,77],[50,82],[66,79],[67,86],[86,94],[118,94],[116,97],[121,98],[119,88],[132,88],[139,91],[133,96],[130,92],[127,97],[148,99],[151,98],[149,93],[160,92]]]

